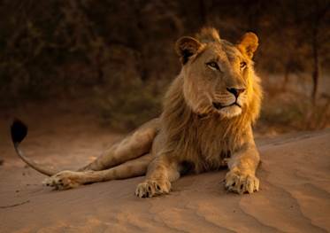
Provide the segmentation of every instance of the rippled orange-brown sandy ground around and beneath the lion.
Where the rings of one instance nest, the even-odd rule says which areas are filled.
[[[330,130],[259,138],[261,190],[227,193],[226,171],[188,175],[173,192],[134,197],[143,177],[57,191],[18,159],[0,113],[0,232],[326,232],[330,231]],[[65,112],[65,111],[64,111]],[[74,118],[73,118],[74,115]],[[46,165],[77,168],[121,137],[83,112],[47,109],[27,118],[27,155]]]

